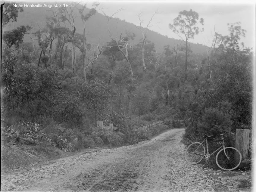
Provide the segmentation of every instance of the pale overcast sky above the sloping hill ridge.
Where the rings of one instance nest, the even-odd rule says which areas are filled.
[[[87,2],[87,7],[95,1]],[[170,38],[179,39],[175,33],[169,29],[169,23],[178,16],[180,11],[190,10],[198,12],[199,17],[204,19],[204,32],[199,33],[190,42],[200,43],[203,45],[211,46],[211,39],[214,35],[214,26],[216,32],[227,35],[227,23],[241,22],[243,29],[246,29],[246,37],[242,38],[242,42],[246,47],[255,48],[255,3],[253,1],[211,1],[211,3],[204,3],[199,1],[190,2],[173,2],[173,1],[98,1],[100,8],[108,15],[112,15],[118,9],[122,8],[123,11],[114,15],[121,20],[139,25],[138,14],[142,12],[141,18],[144,20],[142,23],[146,26],[152,14],[158,11],[152,20],[155,26],[149,29],[156,31],[162,35],[167,35]],[[181,2],[181,3],[180,3]],[[101,13],[101,11],[99,11]],[[255,49],[254,49],[255,50]]]

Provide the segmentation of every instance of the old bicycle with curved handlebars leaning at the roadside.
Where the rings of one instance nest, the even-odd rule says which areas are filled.
[[[242,155],[234,147],[225,147],[224,145],[224,135],[223,134],[217,134],[220,135],[221,139],[214,139],[212,138],[213,135],[204,135],[204,141],[203,142],[195,142],[189,145],[189,147],[185,151],[185,159],[188,163],[195,165],[200,163],[203,158],[208,160],[211,155],[216,153],[218,150],[221,150],[217,153],[215,161],[217,166],[220,169],[231,171],[236,169],[241,161],[242,161]],[[208,150],[208,140],[213,140],[220,142],[222,145],[217,150],[215,150],[213,153],[209,154]],[[205,147],[204,143],[206,143],[206,149],[207,153],[205,154]]]

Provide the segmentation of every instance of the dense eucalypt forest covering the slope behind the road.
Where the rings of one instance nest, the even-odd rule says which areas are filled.
[[[149,38],[132,46],[135,33],[127,30],[114,38],[109,29],[105,45],[91,45],[86,25],[98,5],[76,6],[52,11],[39,30],[18,26],[3,33],[1,126],[33,122],[44,132],[52,127],[50,135],[61,126],[100,143],[93,127],[104,121],[118,126],[117,137],[129,144],[147,138],[136,127],[158,120],[173,126],[185,120],[185,143],[202,134],[230,137],[236,129],[252,129],[253,53],[239,43],[246,34],[240,23],[228,24],[226,36],[215,32],[212,46],[195,54],[187,43],[199,28],[189,26],[186,34],[178,28],[184,19],[177,17],[169,27],[185,35],[185,46],[163,45],[160,53]],[[76,31],[77,10],[83,34]],[[19,11],[6,3],[3,26]],[[192,10],[180,15],[199,19]],[[23,41],[26,34],[33,42]]]

